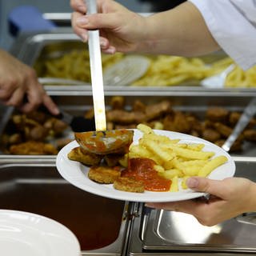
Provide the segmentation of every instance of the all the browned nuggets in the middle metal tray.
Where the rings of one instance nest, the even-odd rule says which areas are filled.
[[[82,111],[86,118],[94,118],[94,110]],[[202,110],[178,110],[169,100],[142,102],[114,96],[106,107],[107,129],[136,128],[139,123],[157,130],[170,130],[204,138],[218,146],[226,141],[241,111],[208,106]],[[245,142],[256,143],[256,118],[250,120],[231,152],[242,152]],[[15,113],[1,137],[1,150],[6,154],[58,154],[58,150],[74,139],[66,123],[40,111],[31,114]]]

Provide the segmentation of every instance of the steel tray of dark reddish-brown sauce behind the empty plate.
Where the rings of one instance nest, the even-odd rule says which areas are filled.
[[[53,218],[78,237],[82,255],[122,255],[130,204],[86,193],[66,182],[54,157],[0,156],[0,208]]]

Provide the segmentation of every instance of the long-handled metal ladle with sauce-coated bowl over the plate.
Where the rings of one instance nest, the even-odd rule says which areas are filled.
[[[86,0],[87,14],[97,13],[97,1]],[[99,31],[88,31],[90,74],[94,99],[96,131],[74,133],[78,144],[94,154],[117,152],[132,141],[133,130],[106,130],[106,112],[102,76],[102,55]]]

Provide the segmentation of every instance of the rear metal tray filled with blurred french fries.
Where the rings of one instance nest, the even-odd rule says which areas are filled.
[[[74,33],[70,33],[70,30],[64,33],[56,30],[46,34],[27,34],[26,37],[18,38],[14,42],[12,51],[22,62],[34,66],[40,78],[66,78],[83,82],[84,86],[90,86],[90,60],[87,46]],[[123,60],[129,55],[122,53],[102,54],[103,76],[104,72],[111,66],[118,65],[118,63],[122,66]],[[134,77],[134,79],[122,77],[124,78],[123,82],[115,83],[115,80],[122,79],[117,75],[117,77],[113,77],[113,83],[106,84],[106,87],[114,85],[120,87],[122,85],[132,86],[134,90],[137,90],[139,87],[147,86],[168,87],[169,90],[173,90],[172,88],[175,86],[182,86],[199,87],[206,90],[200,86],[202,79],[220,74],[233,63],[233,60],[222,51],[193,58],[162,54],[137,54],[137,56],[143,58],[144,62],[145,58],[148,60],[146,68],[142,70],[138,68],[140,74],[134,76],[136,70],[131,70],[127,65],[125,69],[122,69],[122,72],[125,73],[126,78]],[[136,63],[134,62],[134,64]],[[142,63],[142,66],[144,64]],[[234,70],[227,76],[224,88],[234,89],[238,87],[254,90],[256,86],[255,72],[255,66],[246,71],[235,66]],[[81,83],[79,84],[81,85]],[[70,87],[74,90],[74,87],[79,84],[72,83],[71,86],[65,86],[65,83],[53,82],[51,85],[46,85],[46,89],[50,90],[54,86],[62,86],[65,90],[69,90]],[[106,88],[106,90],[108,89]]]

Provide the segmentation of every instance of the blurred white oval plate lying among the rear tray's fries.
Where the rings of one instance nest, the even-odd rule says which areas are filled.
[[[141,78],[149,66],[149,58],[140,55],[126,56],[104,70],[104,84],[106,86],[129,86]]]

